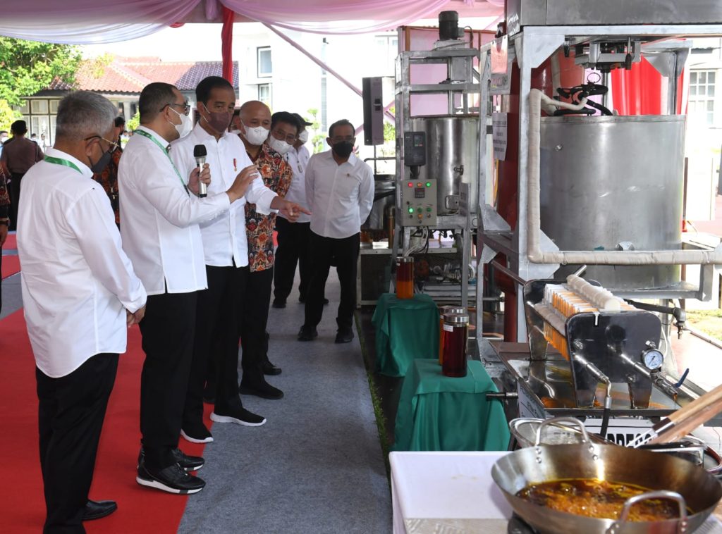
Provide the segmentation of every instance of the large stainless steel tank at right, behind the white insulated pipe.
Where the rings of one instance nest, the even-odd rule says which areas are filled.
[[[543,117],[541,229],[561,250],[677,250],[683,173],[683,115]],[[589,266],[585,276],[660,288],[679,282],[679,266]]]

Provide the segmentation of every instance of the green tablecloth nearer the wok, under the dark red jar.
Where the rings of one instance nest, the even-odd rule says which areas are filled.
[[[464,378],[445,377],[433,360],[417,359],[401,388],[393,450],[507,450],[509,427],[481,362]]]

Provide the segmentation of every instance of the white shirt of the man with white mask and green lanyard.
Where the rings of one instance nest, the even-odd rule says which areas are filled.
[[[139,128],[161,146],[135,133],[118,165],[123,250],[149,295],[206,289],[200,222],[230,206],[226,193],[198,198],[186,190],[188,176],[175,172],[162,146],[168,141]],[[180,175],[180,178],[179,178]]]

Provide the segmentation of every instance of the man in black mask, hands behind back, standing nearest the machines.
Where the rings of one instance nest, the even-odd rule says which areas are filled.
[[[306,198],[312,213],[309,249],[313,270],[306,296],[305,322],[298,341],[312,341],[318,336],[316,325],[323,315],[323,292],[333,258],[341,283],[336,343],[349,343],[354,338],[361,224],[373,204],[373,171],[353,154],[356,136],[349,121],[331,124],[326,142],[331,150],[313,154],[306,167]]]

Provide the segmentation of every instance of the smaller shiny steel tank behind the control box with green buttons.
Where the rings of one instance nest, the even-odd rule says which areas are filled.
[[[468,183],[471,211],[477,211],[479,184],[478,115],[431,115],[412,118],[414,131],[426,132],[426,165],[419,167],[419,179],[437,180],[439,215],[458,212],[459,184]]]

